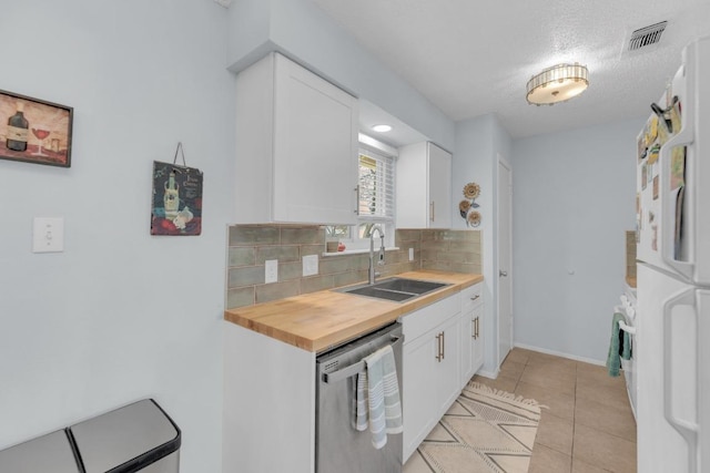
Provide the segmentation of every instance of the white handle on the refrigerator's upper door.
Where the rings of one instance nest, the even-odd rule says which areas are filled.
[[[694,90],[694,81],[696,78],[692,74],[687,74],[687,88],[688,90]],[[683,103],[683,116],[686,117],[682,122],[682,126],[680,131],[671,136],[660,148],[660,153],[658,156],[658,165],[660,166],[660,188],[659,188],[659,197],[661,205],[661,214],[663,220],[661,222],[661,248],[660,254],[661,258],[668,266],[674,268],[680,275],[683,277],[691,279],[694,265],[688,261],[681,261],[676,259],[676,219],[678,215],[676,213],[676,198],[673,198],[673,194],[670,191],[670,175],[671,175],[671,165],[672,165],[672,151],[674,147],[684,146],[692,144],[694,141],[694,131],[693,131],[693,104],[692,100],[687,100]],[[694,157],[694,156],[693,156]],[[689,158],[689,155],[686,154],[686,160]],[[688,162],[686,162],[686,168],[688,167]],[[680,191],[680,189],[679,189]],[[687,193],[684,198],[692,198],[690,196],[692,193]],[[691,205],[692,207],[692,205]],[[670,218],[670,216],[674,218]],[[691,223],[691,225],[696,225]],[[688,232],[688,234],[692,233],[692,229]]]

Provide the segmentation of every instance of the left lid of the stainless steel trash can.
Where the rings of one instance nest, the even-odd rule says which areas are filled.
[[[78,473],[67,432],[59,430],[0,451],[0,472]]]

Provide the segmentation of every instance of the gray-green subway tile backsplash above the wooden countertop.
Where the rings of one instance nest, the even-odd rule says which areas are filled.
[[[235,225],[229,229],[226,308],[251,306],[367,280],[366,254],[323,256],[325,229],[317,225]],[[480,232],[396,230],[381,277],[417,269],[479,274]],[[409,261],[409,248],[414,260]],[[318,275],[303,277],[302,257],[318,255]],[[264,284],[264,261],[278,260],[278,281]]]

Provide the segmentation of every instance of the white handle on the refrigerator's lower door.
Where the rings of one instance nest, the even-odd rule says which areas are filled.
[[[698,424],[689,422],[683,419],[679,419],[673,413],[673,384],[672,384],[672,369],[671,369],[671,331],[673,325],[671,321],[671,311],[676,306],[691,306],[696,308],[694,291],[692,289],[678,292],[673,297],[667,299],[663,302],[663,347],[662,347],[662,382],[663,382],[663,415],[668,423],[676,429],[688,443],[688,464],[690,465],[688,471],[697,471],[698,465]]]

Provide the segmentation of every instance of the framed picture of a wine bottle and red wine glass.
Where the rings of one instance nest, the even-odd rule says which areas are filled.
[[[71,166],[73,109],[0,91],[0,158]]]

